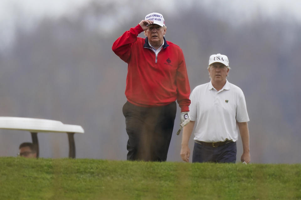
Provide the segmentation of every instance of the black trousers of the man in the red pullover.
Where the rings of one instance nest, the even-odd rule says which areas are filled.
[[[122,111],[129,136],[127,160],[166,161],[176,118],[176,102],[154,108],[126,102]]]

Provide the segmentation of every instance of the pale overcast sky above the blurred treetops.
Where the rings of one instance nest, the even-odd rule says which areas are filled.
[[[34,23],[41,17],[60,17],[62,15],[72,16],[77,13],[78,8],[85,6],[92,0],[0,0],[0,50],[5,49],[6,46],[14,39],[16,25],[23,25],[26,28],[31,28]],[[141,5],[141,9],[154,8],[164,9],[165,15],[177,14],[175,13],[175,7],[181,5],[180,8],[192,8],[199,5],[208,6],[210,12],[215,12],[215,15],[221,17],[235,17],[235,23],[241,23],[250,20],[254,14],[260,12],[264,14],[264,17],[273,17],[275,15],[281,15],[282,13],[290,14],[293,21],[297,23],[301,22],[301,8],[300,0],[186,0],[185,2],[180,0],[152,0],[150,1],[138,1],[138,0],[97,0],[100,4],[108,4],[112,2],[118,2],[120,5],[121,14],[128,12],[126,5],[134,5],[137,3]],[[156,12],[156,11],[154,11]],[[129,15],[133,12],[129,12]],[[120,14],[120,15],[121,15]],[[163,14],[163,13],[162,13]],[[178,13],[181,14],[181,13]],[[111,17],[111,18],[110,18]],[[114,17],[118,17],[115,13],[112,16],[108,16],[108,20],[114,21]],[[240,19],[240,21],[237,21]]]

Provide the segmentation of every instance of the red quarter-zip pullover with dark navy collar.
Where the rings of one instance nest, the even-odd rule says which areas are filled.
[[[177,100],[181,112],[189,111],[190,86],[182,49],[164,38],[164,46],[156,54],[150,49],[147,37],[138,24],[124,32],[112,50],[128,63],[125,96],[142,107],[164,106]]]

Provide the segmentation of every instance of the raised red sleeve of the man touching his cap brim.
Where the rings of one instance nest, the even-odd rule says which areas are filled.
[[[124,34],[113,43],[112,50],[126,63],[131,56],[131,46],[136,42],[140,32],[143,32],[143,29],[138,24],[136,27],[130,28],[129,31],[124,32]]]

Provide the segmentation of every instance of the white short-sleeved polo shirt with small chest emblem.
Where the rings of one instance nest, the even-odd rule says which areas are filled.
[[[211,81],[197,86],[190,94],[189,115],[195,121],[194,140],[223,142],[238,140],[237,122],[248,122],[242,90],[228,80],[217,91]]]

